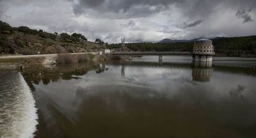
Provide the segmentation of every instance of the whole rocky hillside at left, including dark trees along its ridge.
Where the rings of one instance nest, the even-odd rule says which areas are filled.
[[[0,20],[0,53],[4,54],[56,54],[87,52],[105,49],[103,41],[87,41],[82,34],[47,33],[27,26],[12,27]]]

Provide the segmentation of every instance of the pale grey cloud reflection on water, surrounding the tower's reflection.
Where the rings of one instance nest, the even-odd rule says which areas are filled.
[[[82,81],[75,84],[79,87],[90,87],[94,85],[111,87],[113,84],[121,86],[147,87],[157,92],[165,93],[172,97],[179,92],[202,92],[204,96],[210,99],[220,100],[230,97],[229,91],[240,80],[244,82],[254,82],[255,78],[234,75],[230,73],[214,73],[211,81],[206,83],[193,82],[189,68],[155,68],[155,67],[127,67],[124,66],[125,77],[121,76],[121,66],[109,66],[109,70],[104,73],[95,75],[93,71],[89,71],[87,75],[82,76]],[[224,75],[224,76],[223,76]],[[237,79],[237,77],[239,79]],[[221,79],[220,79],[221,78]],[[234,83],[234,81],[237,81]],[[238,83],[238,84],[239,84]],[[245,83],[243,86],[252,83]],[[252,88],[253,90],[253,88]]]

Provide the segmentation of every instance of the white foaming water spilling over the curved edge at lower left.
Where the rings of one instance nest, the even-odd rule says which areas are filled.
[[[34,137],[38,124],[35,99],[23,76],[14,76],[0,92],[0,137]]]

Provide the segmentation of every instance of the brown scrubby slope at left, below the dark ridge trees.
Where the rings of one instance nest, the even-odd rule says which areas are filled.
[[[49,38],[41,38],[38,35],[24,34],[14,31],[12,34],[1,34],[4,39],[0,47],[2,49],[9,48],[11,54],[56,54],[69,52],[87,52],[95,49],[105,48],[104,45],[93,43],[90,41],[80,40],[80,42],[67,43],[61,41],[57,36],[55,40]]]

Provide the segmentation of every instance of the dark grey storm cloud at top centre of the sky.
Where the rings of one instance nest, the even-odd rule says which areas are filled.
[[[122,16],[116,15],[116,17],[109,18],[145,17],[166,10],[171,4],[183,1],[184,0],[78,0],[74,2],[73,9],[75,14],[86,14],[88,12],[90,12],[90,14],[94,12],[94,14],[96,13],[99,16],[109,12],[122,14]]]

